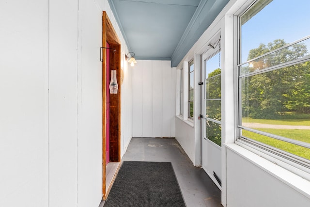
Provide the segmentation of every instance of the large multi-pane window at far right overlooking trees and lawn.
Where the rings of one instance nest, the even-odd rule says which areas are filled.
[[[238,139],[310,167],[307,8],[258,0],[238,16]]]

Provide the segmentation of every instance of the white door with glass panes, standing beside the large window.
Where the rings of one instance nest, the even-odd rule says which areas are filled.
[[[221,69],[219,43],[202,55],[202,168],[221,190]]]

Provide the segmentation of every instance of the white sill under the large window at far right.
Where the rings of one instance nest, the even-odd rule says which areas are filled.
[[[304,179],[303,177],[296,175],[283,167],[280,167],[279,165],[269,161],[268,159],[264,159],[263,157],[255,154],[252,151],[249,151],[248,149],[240,146],[239,144],[223,143],[222,145],[237,153],[243,159],[246,159],[255,166],[259,167],[269,175],[272,175],[275,178],[279,179],[281,182],[290,186],[295,191],[298,191],[304,196],[310,198],[310,181],[308,181],[307,179]]]

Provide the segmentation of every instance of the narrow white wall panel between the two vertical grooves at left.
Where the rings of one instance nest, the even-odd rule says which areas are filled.
[[[78,3],[49,2],[49,205],[74,207],[78,188]]]

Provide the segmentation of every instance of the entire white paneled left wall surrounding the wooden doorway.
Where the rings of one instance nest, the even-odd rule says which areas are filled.
[[[107,0],[0,2],[1,207],[98,207],[103,10],[126,53]],[[124,154],[131,104],[122,112]]]

